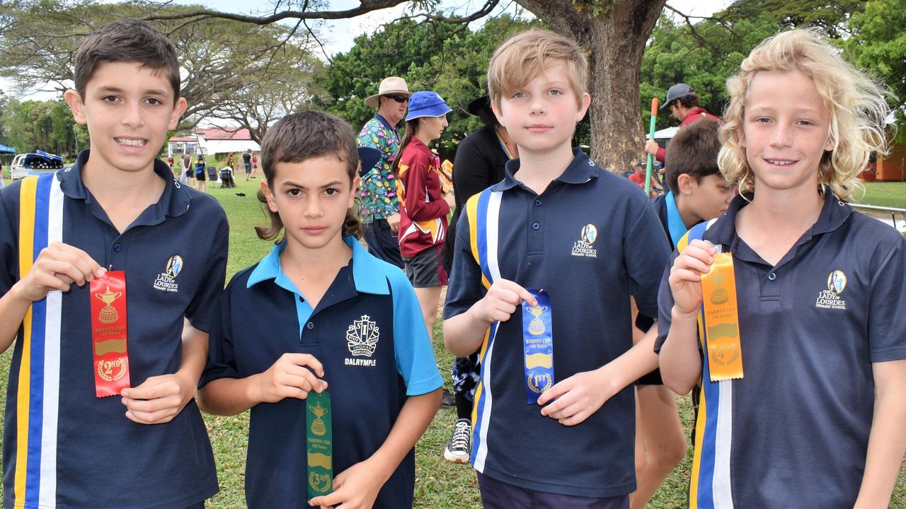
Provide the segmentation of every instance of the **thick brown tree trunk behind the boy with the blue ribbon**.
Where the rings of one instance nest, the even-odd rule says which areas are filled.
[[[592,158],[613,172],[629,171],[644,156],[645,127],[639,109],[639,69],[645,43],[666,0],[595,0],[596,17],[572,0],[517,0],[519,5],[569,35],[588,51],[592,106]]]

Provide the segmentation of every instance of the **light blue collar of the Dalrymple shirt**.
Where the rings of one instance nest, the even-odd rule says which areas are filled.
[[[390,286],[387,283],[387,276],[384,274],[384,267],[381,261],[372,255],[369,255],[365,248],[359,244],[359,241],[352,235],[342,237],[346,245],[352,247],[352,280],[355,283],[355,289],[359,293],[373,293],[375,295],[389,295]],[[292,293],[301,294],[290,281],[280,267],[280,253],[286,247],[286,241],[274,246],[258,266],[248,276],[246,288],[251,288],[255,283],[273,279],[274,283]]]

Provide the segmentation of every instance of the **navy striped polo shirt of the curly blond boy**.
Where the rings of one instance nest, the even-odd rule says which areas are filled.
[[[906,240],[828,192],[814,226],[771,266],[737,235],[746,205],[735,197],[704,235],[733,253],[745,378],[711,382],[703,361],[690,495],[699,507],[852,507],[872,363],[906,359]],[[667,277],[659,350],[673,307]]]

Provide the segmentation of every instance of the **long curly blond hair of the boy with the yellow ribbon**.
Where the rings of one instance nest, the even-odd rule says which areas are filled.
[[[746,94],[758,72],[798,70],[814,81],[830,113],[828,135],[834,149],[818,164],[818,183],[830,187],[842,200],[861,188],[859,173],[872,152],[886,153],[884,121],[889,107],[885,91],[869,76],[853,68],[824,40],[817,29],[797,29],[767,38],[749,53],[739,74],[727,80],[730,98],[720,130],[723,147],[718,165],[740,193],[755,191],[755,178],[742,146]]]

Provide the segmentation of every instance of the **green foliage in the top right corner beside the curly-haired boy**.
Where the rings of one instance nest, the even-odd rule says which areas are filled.
[[[843,41],[843,54],[857,67],[882,80],[893,95],[897,139],[906,142],[906,10],[901,0],[872,0],[853,14],[852,36]]]

